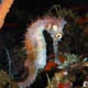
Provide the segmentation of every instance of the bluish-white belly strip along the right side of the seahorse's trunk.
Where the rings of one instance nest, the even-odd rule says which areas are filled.
[[[37,32],[37,37],[36,37],[37,42],[37,47],[36,47],[37,54],[35,59],[36,68],[43,68],[46,65],[46,43],[42,31]]]

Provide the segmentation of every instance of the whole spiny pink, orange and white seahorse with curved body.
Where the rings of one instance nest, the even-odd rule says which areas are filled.
[[[46,43],[43,31],[47,31],[54,41],[54,52],[57,57],[57,43],[62,38],[65,20],[59,18],[42,18],[32,23],[25,34],[25,48],[28,52],[28,61],[25,66],[29,67],[29,77],[25,81],[20,82],[21,88],[30,86],[36,77],[37,70],[46,65]]]

